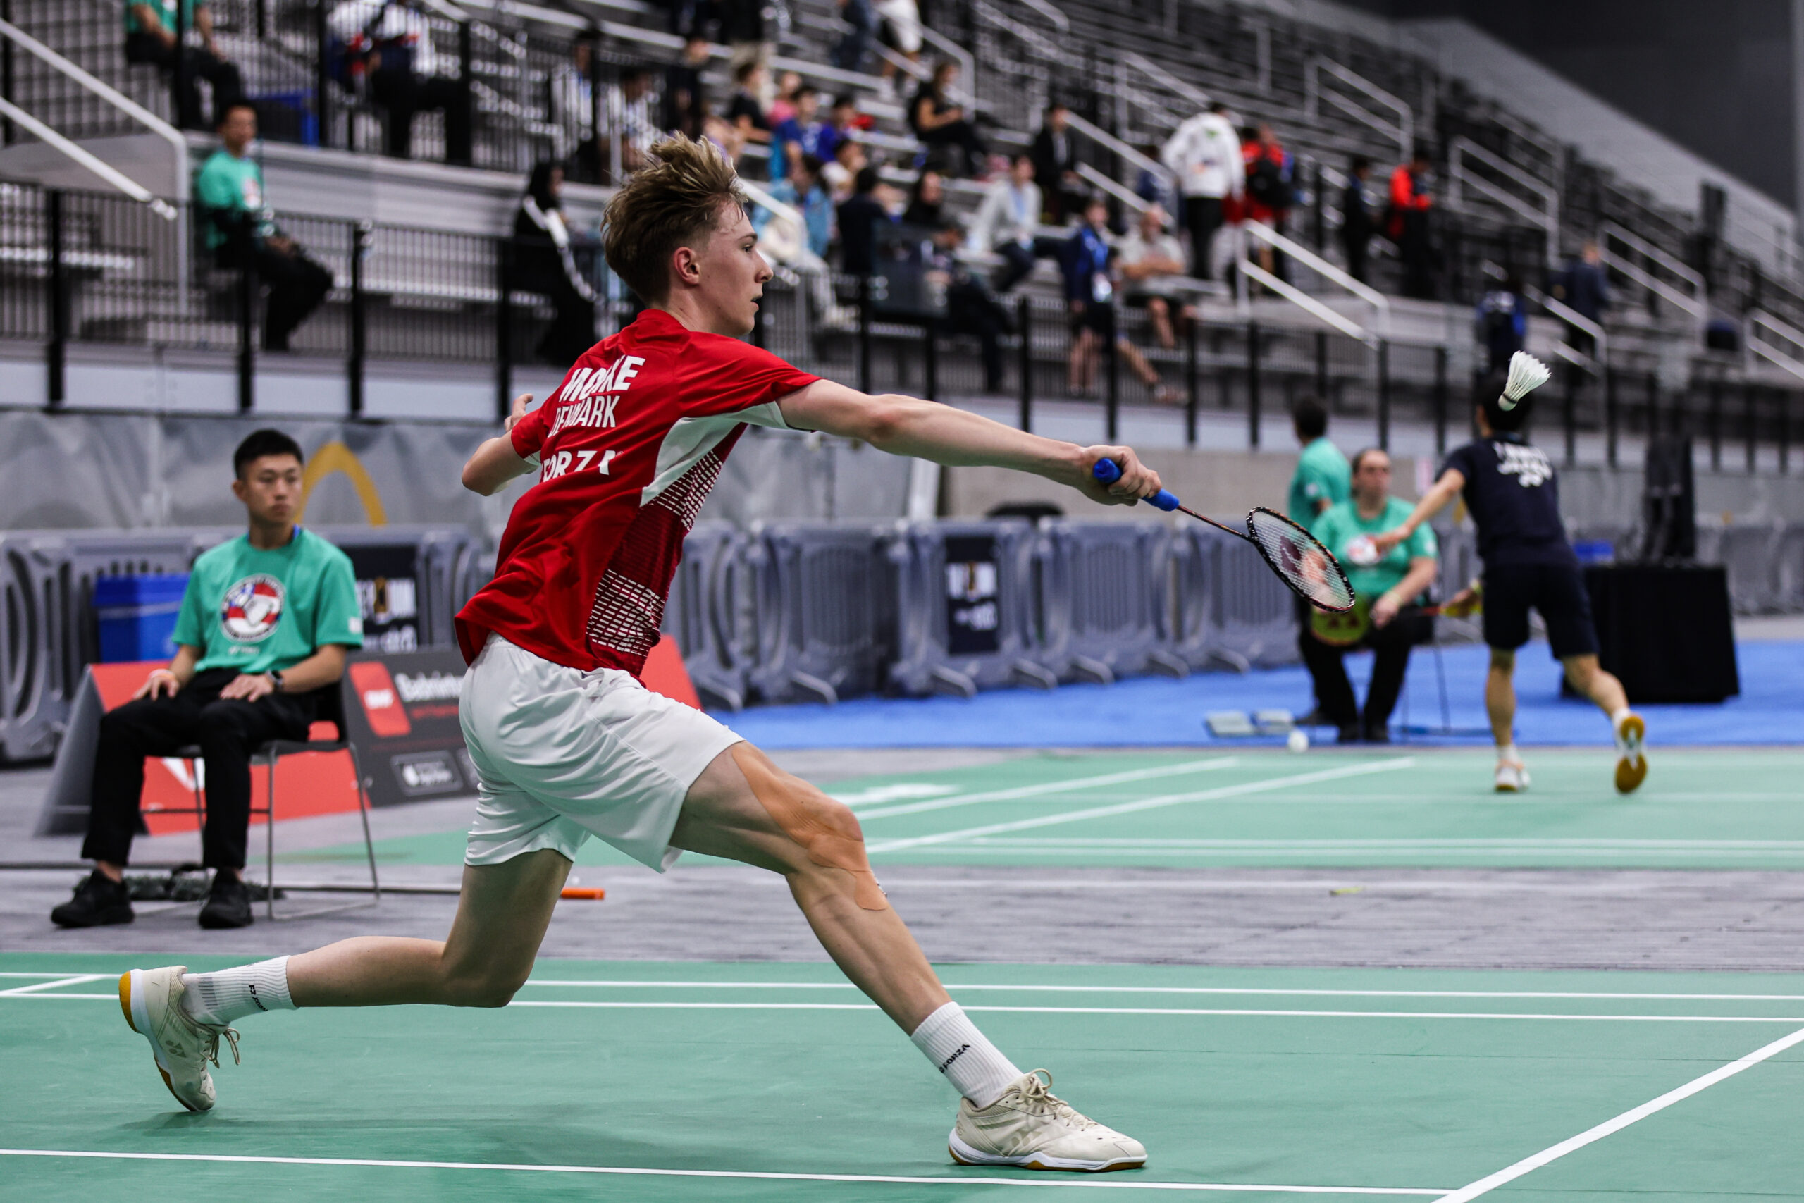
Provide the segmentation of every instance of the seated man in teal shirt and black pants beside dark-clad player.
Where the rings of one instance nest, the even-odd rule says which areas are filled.
[[[1353,498],[1328,507],[1310,527],[1346,568],[1358,599],[1348,613],[1315,610],[1308,635],[1299,640],[1322,718],[1340,729],[1340,743],[1391,741],[1391,711],[1404,689],[1409,649],[1434,633],[1434,619],[1420,608],[1422,593],[1434,581],[1434,530],[1420,527],[1382,556],[1371,541],[1409,512],[1409,501],[1391,496],[1391,456],[1369,447],[1353,456]],[[1353,700],[1353,684],[1340,662],[1346,653],[1362,649],[1376,655],[1364,711]]]

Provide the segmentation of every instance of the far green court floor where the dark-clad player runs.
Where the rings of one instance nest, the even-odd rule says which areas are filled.
[[[1528,756],[1494,794],[1488,750],[1035,754],[830,783],[879,864],[1804,868],[1804,752],[1660,750],[1640,792],[1607,750]],[[377,815],[381,833],[381,813]],[[379,840],[458,864],[462,831]],[[307,851],[359,860],[363,844]],[[583,862],[624,857],[592,840]]]

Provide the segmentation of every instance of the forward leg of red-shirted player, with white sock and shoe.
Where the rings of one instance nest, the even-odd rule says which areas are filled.
[[[1109,1171],[1146,1163],[1140,1142],[1021,1073],[953,1003],[864,857],[851,810],[783,772],[749,743],[727,748],[684,801],[671,844],[754,864],[788,880],[833,963],[909,1033],[963,1095],[947,1138],[967,1165]]]

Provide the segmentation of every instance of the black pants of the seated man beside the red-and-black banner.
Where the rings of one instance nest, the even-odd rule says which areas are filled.
[[[137,835],[144,758],[173,756],[198,745],[207,767],[207,824],[200,840],[209,869],[242,869],[251,830],[251,752],[271,739],[305,739],[314,721],[312,694],[271,694],[258,702],[222,702],[236,669],[197,673],[173,698],[139,698],[101,718],[94,756],[88,860],[128,864]],[[336,685],[332,685],[336,689]]]

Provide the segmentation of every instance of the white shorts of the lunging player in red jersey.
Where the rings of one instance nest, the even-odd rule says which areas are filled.
[[[568,859],[599,835],[660,873],[689,786],[740,736],[619,669],[583,673],[491,635],[464,675],[476,822],[464,864],[539,848]]]

